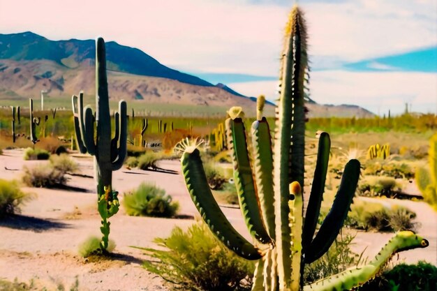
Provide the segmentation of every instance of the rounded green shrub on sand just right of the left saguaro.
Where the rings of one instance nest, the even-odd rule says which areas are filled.
[[[123,198],[126,214],[131,216],[175,216],[179,203],[172,202],[172,197],[154,185],[142,183],[135,191]]]

